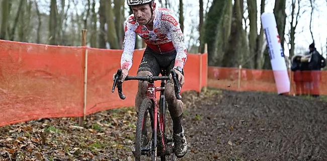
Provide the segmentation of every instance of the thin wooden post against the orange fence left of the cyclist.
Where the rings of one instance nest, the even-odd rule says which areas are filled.
[[[87,42],[87,31],[83,29],[81,31],[81,46],[86,46]],[[83,97],[83,117],[79,117],[78,125],[83,127],[84,120],[86,119],[86,97],[87,97],[87,72],[88,71],[88,49],[85,49],[85,59],[84,59],[84,97]]]

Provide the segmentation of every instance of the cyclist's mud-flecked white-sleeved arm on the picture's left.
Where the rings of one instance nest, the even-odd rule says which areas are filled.
[[[122,69],[129,70],[132,67],[133,52],[135,48],[135,27],[129,22],[131,16],[129,16],[124,25],[125,37],[124,37],[124,51],[121,56],[120,65]]]

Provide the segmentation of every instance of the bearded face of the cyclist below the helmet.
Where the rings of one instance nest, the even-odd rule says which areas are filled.
[[[155,9],[155,3],[152,3],[152,9]],[[151,8],[148,4],[132,6],[132,10],[139,25],[145,25],[151,19]]]

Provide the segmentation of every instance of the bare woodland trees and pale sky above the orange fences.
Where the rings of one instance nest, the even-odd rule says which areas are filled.
[[[208,44],[210,66],[271,69],[265,34],[260,15],[268,0],[156,0],[158,7],[173,10],[185,33],[189,53],[203,53]],[[87,46],[122,49],[124,22],[131,11],[125,0],[0,0],[0,39],[49,45],[80,46],[81,30],[87,29]],[[322,0],[276,0],[273,12],[287,64],[292,55],[308,50],[311,42],[320,44],[317,50],[325,54],[327,46],[313,36],[313,15]],[[327,3],[327,0],[326,0]],[[195,5],[196,4],[196,5]],[[194,11],[199,11],[194,14]],[[288,14],[286,14],[288,13]],[[196,16],[194,16],[196,15]],[[301,19],[306,16],[309,19]],[[322,15],[323,16],[323,15]],[[326,15],[325,15],[326,16]],[[296,45],[307,21],[311,40],[305,46]],[[303,27],[302,27],[303,28]],[[320,40],[321,38],[319,38]],[[286,45],[285,45],[286,44]],[[144,47],[138,37],[136,48]],[[317,45],[316,45],[317,46]],[[286,47],[286,48],[285,48]],[[326,49],[325,49],[326,47]]]

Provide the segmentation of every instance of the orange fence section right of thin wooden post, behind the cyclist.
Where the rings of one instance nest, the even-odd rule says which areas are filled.
[[[108,49],[88,49],[88,83],[87,83],[87,115],[113,108],[130,107],[135,104],[135,95],[137,93],[138,81],[125,81],[122,84],[125,100],[121,100],[118,96],[118,91],[112,93],[113,74],[120,68],[120,58],[123,50],[108,50]],[[138,65],[142,60],[144,49],[134,50],[133,65],[128,71],[128,75],[136,76]],[[181,92],[194,90],[200,92],[200,89],[206,86],[206,61],[207,54],[188,54],[188,59],[184,66],[185,84]],[[201,57],[204,58],[201,58]],[[204,77],[204,78],[203,78]],[[202,83],[200,84],[200,78]],[[160,86],[160,81],[155,81],[155,86]],[[156,98],[159,99],[159,92],[156,93]]]

